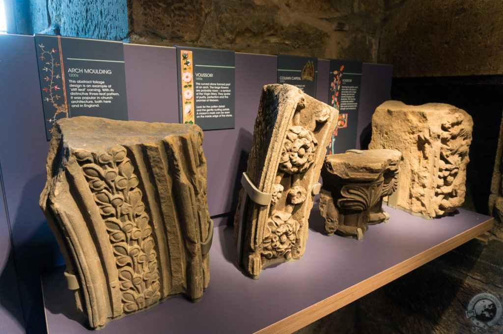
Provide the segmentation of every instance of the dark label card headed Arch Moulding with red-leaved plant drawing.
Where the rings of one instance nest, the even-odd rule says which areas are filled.
[[[47,140],[63,117],[127,120],[122,42],[35,35]]]

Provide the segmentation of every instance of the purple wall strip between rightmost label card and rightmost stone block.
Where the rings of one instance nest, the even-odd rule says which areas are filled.
[[[362,149],[362,147],[366,149],[370,142],[372,114],[381,103],[390,99],[392,75],[392,65],[363,64],[358,128],[356,131],[357,149]]]

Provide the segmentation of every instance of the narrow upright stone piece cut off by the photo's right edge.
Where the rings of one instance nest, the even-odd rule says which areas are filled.
[[[499,127],[498,146],[494,159],[494,170],[491,179],[491,194],[489,195],[489,214],[493,216],[494,225],[492,233],[498,238],[503,238],[503,119]]]

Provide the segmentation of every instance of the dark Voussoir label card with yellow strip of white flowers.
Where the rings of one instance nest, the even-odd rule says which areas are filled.
[[[234,51],[177,46],[180,123],[234,128]]]

